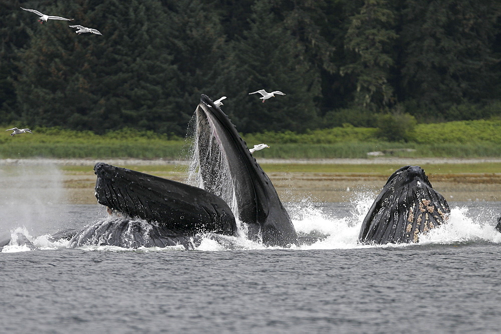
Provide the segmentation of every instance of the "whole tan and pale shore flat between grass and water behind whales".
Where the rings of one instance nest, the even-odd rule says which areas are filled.
[[[354,194],[367,192],[377,193],[384,185],[388,176],[397,166],[408,164],[430,165],[435,169],[442,169],[441,173],[429,175],[433,187],[447,200],[501,200],[501,158],[461,159],[461,158],[369,158],[369,159],[264,159],[257,161],[268,171],[280,198],[283,201],[298,201],[305,198],[318,202],[347,202],[353,199]],[[94,186],[96,176],[93,166],[96,162],[106,162],[117,166],[134,168],[156,176],[169,178],[174,181],[185,182],[185,173],[176,168],[163,166],[185,166],[186,160],[170,159],[0,159],[0,172],[7,177],[0,177],[0,183],[8,188],[11,177],[29,177],[30,187],[53,192],[63,189],[66,198],[71,203],[96,203]],[[455,164],[498,163],[490,167],[489,172],[471,172],[472,165],[463,168],[461,173],[452,173]],[[268,166],[267,166],[268,164]],[[272,166],[278,164],[278,168]],[[289,171],[293,164],[300,165],[299,171]],[[318,170],[321,164],[328,166],[322,171],[301,171],[302,166],[309,169],[308,164],[317,165],[311,168]],[[383,168],[376,164],[384,165]],[[449,168],[444,168],[448,165]],[[337,166],[339,166],[339,168]],[[345,166],[342,166],[345,165]],[[348,167],[346,167],[346,165]],[[358,167],[358,166],[360,167]],[[438,166],[436,166],[438,165]],[[56,170],[65,166],[76,166],[76,170]],[[84,168],[79,168],[83,166]],[[158,169],[157,166],[159,167]],[[184,168],[184,167],[183,167]],[[371,172],[374,168],[378,172]],[[296,168],[298,169],[298,168]],[[322,169],[322,168],[321,168]],[[332,170],[330,170],[332,169]],[[338,170],[339,169],[339,170]],[[343,171],[340,171],[340,170]],[[362,170],[361,170],[362,169]],[[363,169],[367,169],[366,172]],[[497,170],[499,169],[499,171]],[[184,170],[184,169],[183,169]],[[37,182],[33,182],[37,180]],[[59,182],[58,187],[51,188],[51,182]],[[18,180],[16,179],[16,182]]]

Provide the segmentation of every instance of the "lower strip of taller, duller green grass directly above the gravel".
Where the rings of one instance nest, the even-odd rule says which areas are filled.
[[[248,145],[252,146],[252,145]],[[271,144],[259,156],[280,159],[330,159],[330,158],[367,158],[369,152],[376,156],[389,157],[443,157],[443,158],[480,158],[500,157],[501,144],[416,144],[416,143],[359,143],[337,144]],[[184,141],[124,143],[108,142],[96,144],[12,142],[0,144],[0,158],[140,158],[140,159],[183,159],[188,146]]]

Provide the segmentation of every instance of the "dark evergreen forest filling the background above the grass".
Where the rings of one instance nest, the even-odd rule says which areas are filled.
[[[184,135],[201,93],[245,133],[501,115],[499,0],[0,0],[0,22],[3,124]]]

